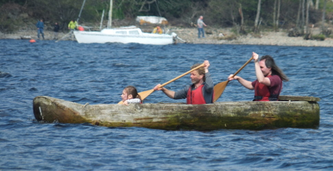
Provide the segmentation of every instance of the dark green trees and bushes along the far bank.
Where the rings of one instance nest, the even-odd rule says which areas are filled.
[[[60,23],[66,28],[69,21],[78,18],[84,0],[0,0],[0,25],[2,29],[15,29],[10,23],[15,23],[14,18],[8,15],[29,15],[30,18],[38,20],[44,18],[45,23]],[[321,10],[323,1],[319,3],[320,10],[310,9],[310,25],[321,21]],[[151,3],[148,3],[151,2]],[[262,0],[260,9],[260,29],[273,27],[274,0]],[[24,8],[8,8],[8,3],[19,5]],[[207,25],[215,27],[240,27],[241,6],[243,12],[244,27],[253,27],[257,14],[258,0],[113,0],[112,18],[135,20],[136,16],[164,16],[172,25],[186,25],[196,23],[197,18],[204,16]],[[110,0],[86,0],[80,23],[99,23],[103,10],[103,20],[108,19]],[[299,0],[281,0],[279,27],[295,27]],[[326,16],[332,15],[333,2],[327,0]],[[12,13],[8,10],[13,10]],[[330,13],[331,12],[331,13]],[[18,14],[16,14],[18,13]],[[332,19],[331,19],[332,20]],[[249,28],[250,30],[251,28]],[[239,30],[239,29],[238,29]],[[237,31],[239,34],[240,31]]]

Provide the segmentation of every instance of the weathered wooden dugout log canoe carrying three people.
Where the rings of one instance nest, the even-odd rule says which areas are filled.
[[[280,96],[275,102],[217,102],[208,105],[143,103],[85,105],[50,96],[36,96],[34,116],[42,122],[90,123],[103,127],[145,127],[164,130],[316,128],[319,98]]]

